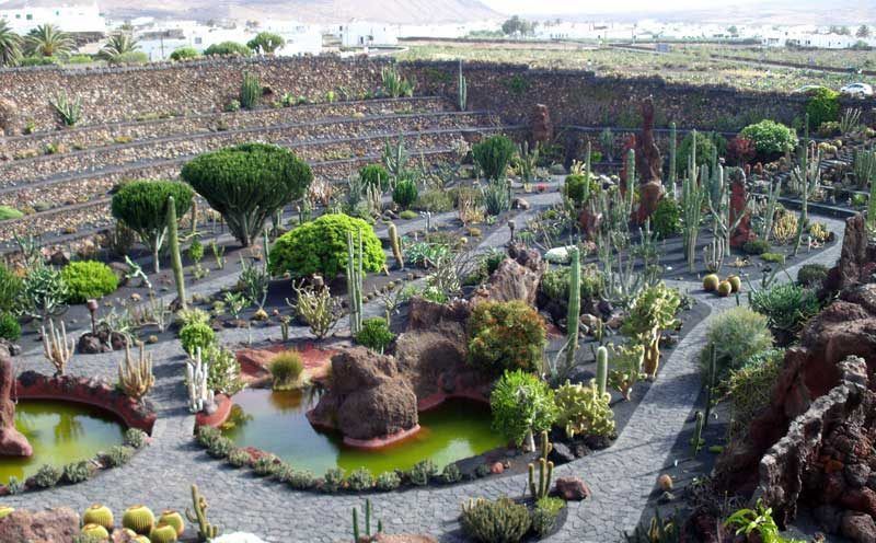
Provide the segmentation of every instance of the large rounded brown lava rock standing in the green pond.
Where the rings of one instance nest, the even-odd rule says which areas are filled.
[[[417,397],[393,357],[353,347],[332,357],[332,386],[308,418],[345,438],[382,439],[417,426]]]

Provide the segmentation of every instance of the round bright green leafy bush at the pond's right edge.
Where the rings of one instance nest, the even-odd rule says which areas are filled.
[[[549,430],[557,416],[554,391],[537,376],[506,371],[489,395],[493,429],[520,446],[525,439]]]

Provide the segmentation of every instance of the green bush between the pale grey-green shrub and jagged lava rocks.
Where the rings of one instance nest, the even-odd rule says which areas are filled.
[[[727,386],[727,396],[730,398],[727,438],[730,441],[744,438],[754,417],[770,405],[773,384],[782,370],[784,358],[784,349],[766,349],[730,372]]]

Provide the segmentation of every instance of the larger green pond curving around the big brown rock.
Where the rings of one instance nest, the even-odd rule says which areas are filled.
[[[377,450],[347,447],[337,432],[313,428],[304,414],[318,396],[308,391],[274,392],[247,389],[234,396],[243,417],[232,418],[224,435],[239,447],[272,452],[297,470],[321,475],[332,467],[367,467],[378,475],[407,470],[420,460],[442,469],[448,463],[504,446],[489,428],[489,407],[466,400],[450,400],[419,414],[422,430]]]

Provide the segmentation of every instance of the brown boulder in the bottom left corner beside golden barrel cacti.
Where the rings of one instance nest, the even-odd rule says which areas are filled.
[[[0,543],[62,543],[79,534],[79,515],[62,507],[32,512],[15,510],[0,519]]]

